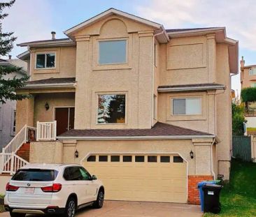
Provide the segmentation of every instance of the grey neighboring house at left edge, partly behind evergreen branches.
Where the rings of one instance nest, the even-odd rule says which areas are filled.
[[[18,66],[22,67],[17,73],[4,75],[3,79],[16,76],[21,78],[27,74],[27,63],[20,59],[0,59],[0,66]],[[15,115],[16,101],[6,100],[6,103],[0,103],[0,148],[3,148],[13,139],[15,135]]]

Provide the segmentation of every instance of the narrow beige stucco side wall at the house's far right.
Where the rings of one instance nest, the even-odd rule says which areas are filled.
[[[218,173],[229,179],[229,170],[232,149],[232,110],[231,110],[231,80],[229,75],[228,45],[217,45],[217,82],[225,84],[227,89],[216,95],[216,123],[217,136],[220,143],[216,146]],[[221,161],[220,161],[221,160]],[[223,161],[225,160],[225,161]]]

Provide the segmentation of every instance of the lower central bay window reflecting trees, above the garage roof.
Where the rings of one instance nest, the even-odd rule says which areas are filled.
[[[97,123],[125,123],[125,94],[99,95]]]

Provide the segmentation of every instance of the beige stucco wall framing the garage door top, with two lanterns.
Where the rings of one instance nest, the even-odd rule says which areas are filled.
[[[180,154],[188,162],[188,174],[212,175],[211,142],[192,140],[97,140],[32,142],[31,163],[81,163],[89,154]],[[63,145],[63,146],[62,146]],[[78,150],[79,157],[75,157]],[[190,158],[190,151],[194,158]],[[63,158],[62,158],[63,157]]]

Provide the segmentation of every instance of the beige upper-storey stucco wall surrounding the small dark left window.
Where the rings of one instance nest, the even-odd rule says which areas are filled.
[[[37,69],[36,54],[40,52],[55,52],[55,68]],[[31,80],[41,80],[50,77],[76,77],[76,47],[31,48],[30,54]]]

